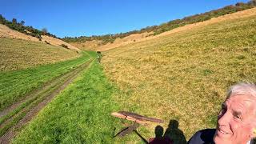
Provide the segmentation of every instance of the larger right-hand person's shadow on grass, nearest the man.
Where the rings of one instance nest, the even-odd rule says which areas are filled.
[[[186,144],[182,130],[178,129],[178,121],[171,119],[163,137],[170,138],[174,144]]]

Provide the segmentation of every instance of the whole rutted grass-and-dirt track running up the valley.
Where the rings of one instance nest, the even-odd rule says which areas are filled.
[[[95,54],[90,53],[90,57],[90,61],[85,62],[75,70],[57,78],[50,86],[43,87],[41,91],[38,91],[38,94],[34,94],[34,97],[27,99],[26,102],[21,103],[21,106],[18,106],[17,109],[1,118],[0,135],[4,135],[0,138],[0,142],[8,142],[10,138],[13,138],[15,131],[19,130],[26,122],[29,122],[42,107],[50,102],[51,98],[54,98],[54,96],[72,82],[82,70],[85,70],[92,61],[92,58],[95,58]],[[11,126],[14,127],[12,130],[9,130]],[[6,133],[7,130],[9,131]]]

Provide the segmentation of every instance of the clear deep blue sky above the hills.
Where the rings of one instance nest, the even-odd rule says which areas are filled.
[[[249,0],[1,0],[0,14],[60,38],[116,34]]]

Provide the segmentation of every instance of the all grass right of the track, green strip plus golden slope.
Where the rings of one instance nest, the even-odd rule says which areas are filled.
[[[106,51],[103,67],[92,63],[13,142],[142,142],[134,133],[112,138],[122,127],[110,116],[117,110],[162,118],[165,130],[177,121],[186,140],[214,128],[226,89],[256,82],[255,21],[256,15],[226,19]],[[154,138],[156,126],[138,132]]]

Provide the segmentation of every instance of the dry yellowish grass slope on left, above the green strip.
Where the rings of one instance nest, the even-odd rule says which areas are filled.
[[[22,39],[0,38],[0,71],[21,70],[31,66],[78,58],[75,50]]]

